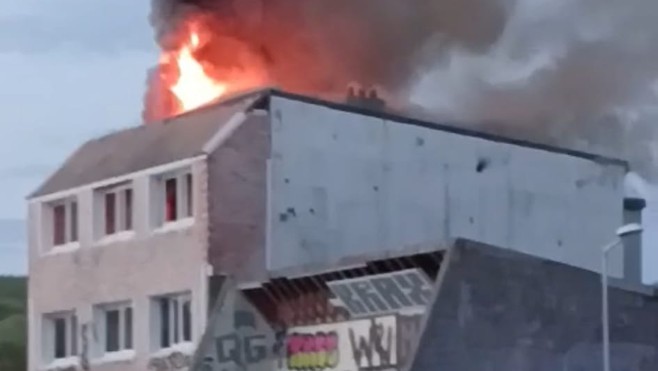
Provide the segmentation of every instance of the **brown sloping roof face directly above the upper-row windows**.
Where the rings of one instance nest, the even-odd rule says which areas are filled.
[[[163,122],[92,139],[75,151],[29,197],[48,195],[203,154],[204,145],[262,92],[240,95]]]

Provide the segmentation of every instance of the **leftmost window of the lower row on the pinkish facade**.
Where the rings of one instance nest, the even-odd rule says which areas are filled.
[[[46,315],[43,328],[46,362],[75,356],[77,333],[77,318],[73,312]]]

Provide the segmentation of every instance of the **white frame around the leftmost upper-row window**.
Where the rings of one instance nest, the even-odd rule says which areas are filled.
[[[76,218],[73,218],[73,205],[76,209]],[[64,207],[64,242],[55,242],[55,209]],[[42,235],[42,243],[48,250],[67,249],[76,247],[80,243],[80,202],[76,196],[66,197],[56,201],[48,202],[44,205],[44,216],[42,230],[46,233]],[[75,238],[73,236],[73,225],[75,221]],[[46,251],[47,252],[47,251]]]

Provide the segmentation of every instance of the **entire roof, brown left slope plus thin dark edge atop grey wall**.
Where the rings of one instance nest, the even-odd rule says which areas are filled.
[[[142,125],[93,139],[75,151],[64,165],[29,197],[44,196],[204,154],[204,145],[235,113],[247,111],[263,98],[270,96],[280,96],[316,106],[378,117],[400,124],[422,126],[581,157],[590,161],[620,165],[626,169],[629,167],[626,161],[608,156],[480,132],[459,124],[435,123],[382,110],[331,102],[268,87],[237,95],[161,123]]]

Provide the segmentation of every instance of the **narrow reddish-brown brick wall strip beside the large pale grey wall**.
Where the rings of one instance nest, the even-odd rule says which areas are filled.
[[[208,257],[216,274],[265,277],[269,153],[269,120],[252,113],[208,159]]]

